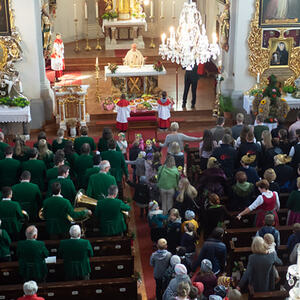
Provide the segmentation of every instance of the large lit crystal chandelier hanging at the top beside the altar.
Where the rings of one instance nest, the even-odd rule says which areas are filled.
[[[213,43],[209,44],[201,14],[192,0],[184,3],[177,33],[174,27],[171,27],[170,37],[166,40],[166,35],[163,33],[161,39],[159,54],[162,59],[181,64],[183,68],[193,67],[195,63],[204,64],[211,58],[216,59],[220,54],[216,34],[213,34]]]

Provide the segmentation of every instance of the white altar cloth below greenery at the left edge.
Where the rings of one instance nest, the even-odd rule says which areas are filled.
[[[0,123],[29,123],[31,122],[30,106],[11,107],[0,105]]]

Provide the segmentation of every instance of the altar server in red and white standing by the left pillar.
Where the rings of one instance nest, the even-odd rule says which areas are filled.
[[[53,43],[51,69],[55,71],[55,81],[59,81],[65,69],[64,43],[60,33],[56,34],[56,39]]]

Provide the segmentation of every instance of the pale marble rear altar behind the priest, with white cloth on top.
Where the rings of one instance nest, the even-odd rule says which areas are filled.
[[[145,48],[143,31],[147,31],[145,19],[103,20],[102,30],[105,35],[105,49],[130,49],[137,44],[139,49]]]

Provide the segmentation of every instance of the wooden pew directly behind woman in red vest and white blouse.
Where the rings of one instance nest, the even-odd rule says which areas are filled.
[[[255,236],[256,232],[260,228],[237,228],[237,229],[226,229],[224,234],[224,243],[227,249],[230,249],[230,241],[234,242],[235,247],[248,247],[252,243],[252,237]],[[277,230],[280,232],[280,243],[286,245],[288,237],[293,233],[293,226],[278,226]]]

